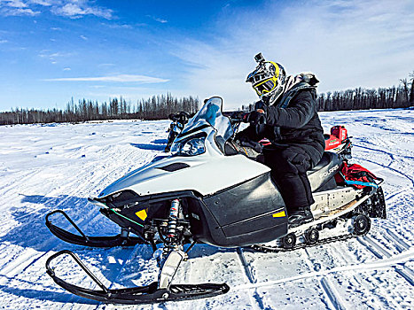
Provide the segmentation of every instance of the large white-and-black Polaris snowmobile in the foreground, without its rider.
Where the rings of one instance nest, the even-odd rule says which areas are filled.
[[[248,156],[233,141],[235,120],[224,116],[221,97],[210,98],[176,136],[171,154],[159,156],[102,190],[92,204],[121,227],[117,236],[86,236],[69,216],[57,210],[46,215],[46,225],[60,239],[86,246],[111,247],[151,244],[158,252],[158,281],[142,287],[108,289],[70,251],[53,254],[48,275],[62,288],[104,303],[143,304],[207,298],[226,293],[226,283],[176,284],[173,278],[197,243],[217,247],[246,247],[251,251],[292,251],[301,247],[362,236],[372,217],[386,218],[379,182],[363,189],[338,185],[344,156],[325,152],[309,171],[316,203],[315,221],[289,228],[286,207],[270,178],[269,167]],[[240,120],[238,120],[240,121]],[[240,151],[241,150],[241,151]],[[65,216],[79,234],[52,224]],[[348,225],[348,233],[319,238],[325,230]],[[130,236],[134,234],[135,236]],[[157,245],[162,245],[162,251]],[[184,250],[185,249],[185,250]],[[161,253],[160,253],[161,252]],[[56,275],[52,261],[68,255],[99,289],[67,283]]]

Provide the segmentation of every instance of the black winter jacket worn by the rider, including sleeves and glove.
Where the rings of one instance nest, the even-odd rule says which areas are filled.
[[[255,142],[268,138],[273,147],[284,148],[289,145],[311,145],[315,151],[324,151],[324,129],[316,111],[316,90],[301,89],[286,103],[285,96],[279,98],[274,105],[256,103],[256,108],[266,112],[266,124],[258,128],[249,126],[238,133],[238,137],[246,136]]]

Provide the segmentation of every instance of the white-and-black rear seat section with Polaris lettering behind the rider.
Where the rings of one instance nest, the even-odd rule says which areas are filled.
[[[342,159],[332,151],[325,151],[322,159],[307,174],[312,191],[328,190],[336,186],[334,175],[340,170]]]

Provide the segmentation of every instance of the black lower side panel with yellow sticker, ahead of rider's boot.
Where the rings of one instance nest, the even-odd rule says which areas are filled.
[[[227,247],[256,244],[287,232],[285,204],[269,173],[202,201],[203,204],[191,210],[191,228],[195,227],[194,235],[207,244]]]

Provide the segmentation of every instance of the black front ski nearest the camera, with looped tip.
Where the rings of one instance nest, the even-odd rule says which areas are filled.
[[[93,280],[93,282],[98,284],[98,287],[101,290],[90,290],[85,289],[80,286],[76,286],[71,283],[66,283],[64,280],[60,279],[55,275],[54,268],[51,267],[51,260],[56,259],[60,255],[70,255],[76,263],[82,267],[87,275]],[[81,260],[74,254],[67,250],[57,252],[53,254],[46,261],[46,271],[47,274],[51,276],[53,281],[59,286],[64,288],[66,291],[70,291],[75,295],[81,296],[83,298],[90,298],[98,300],[104,303],[111,304],[150,304],[157,302],[173,301],[173,300],[188,300],[195,298],[207,298],[213,297],[216,295],[224,294],[230,290],[229,286],[226,283],[215,284],[215,283],[205,283],[205,284],[172,284],[168,289],[158,289],[158,283],[154,282],[150,285],[142,287],[133,287],[127,289],[118,289],[118,290],[109,290],[101,283],[98,278],[93,275],[88,267],[86,267]]]

